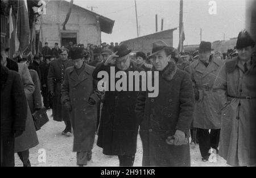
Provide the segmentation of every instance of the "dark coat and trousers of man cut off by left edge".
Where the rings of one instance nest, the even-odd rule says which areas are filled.
[[[27,98],[19,73],[1,64],[1,167],[14,166],[14,131],[24,131]]]

